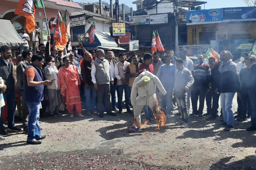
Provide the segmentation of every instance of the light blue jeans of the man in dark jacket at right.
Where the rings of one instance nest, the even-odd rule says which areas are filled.
[[[233,126],[234,117],[232,112],[232,101],[235,93],[221,93],[220,94],[220,105],[222,108],[222,115],[224,118],[224,122],[227,125]]]

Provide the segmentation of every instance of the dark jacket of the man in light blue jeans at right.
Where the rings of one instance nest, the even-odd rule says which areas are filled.
[[[239,67],[236,63],[233,61],[229,61],[226,65],[220,63],[219,74],[220,93],[234,93],[241,91]]]

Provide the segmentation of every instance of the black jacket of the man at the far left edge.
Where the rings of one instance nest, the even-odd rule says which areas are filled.
[[[7,66],[2,57],[0,57],[0,77],[4,80],[7,90],[14,90],[13,63],[9,61]]]

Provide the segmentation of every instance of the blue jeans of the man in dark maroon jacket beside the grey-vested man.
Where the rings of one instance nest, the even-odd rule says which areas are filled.
[[[97,92],[94,89],[94,85],[90,85],[88,88],[84,86],[85,97],[85,109],[95,109]]]

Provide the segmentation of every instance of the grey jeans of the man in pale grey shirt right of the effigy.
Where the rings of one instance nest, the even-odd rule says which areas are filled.
[[[188,123],[187,92],[175,92],[175,97],[179,105],[179,112],[181,113],[182,120],[185,123]]]

